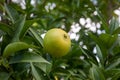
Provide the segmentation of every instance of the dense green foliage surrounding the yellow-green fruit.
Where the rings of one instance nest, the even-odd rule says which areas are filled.
[[[25,1],[26,9],[15,3],[0,6],[0,80],[120,79],[120,27],[116,17],[108,24],[98,11],[97,18],[105,33],[97,35],[89,31],[86,35],[85,29],[81,29],[81,37],[78,41],[72,40],[69,54],[56,59],[44,52],[41,34],[61,25],[69,31],[72,22],[77,22],[81,15],[91,16],[95,10],[92,2],[54,0],[57,6],[47,12],[45,6],[52,0],[38,0],[39,5],[35,7],[30,0]],[[84,3],[89,3],[87,9]],[[79,9],[85,10],[81,12]],[[87,49],[79,45],[80,41],[84,41]],[[93,48],[96,48],[95,53]]]

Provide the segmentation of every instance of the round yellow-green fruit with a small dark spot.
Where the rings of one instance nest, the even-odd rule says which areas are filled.
[[[62,29],[50,29],[43,40],[44,50],[53,57],[65,56],[71,48],[69,35]]]

